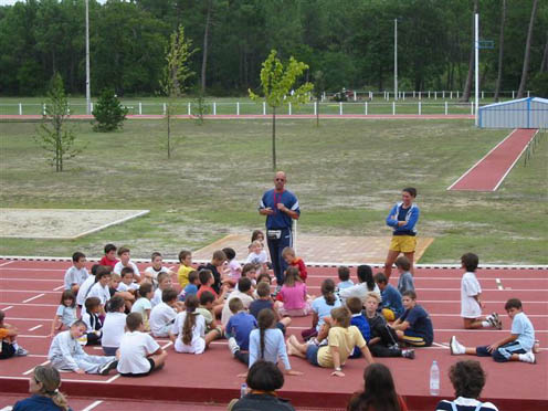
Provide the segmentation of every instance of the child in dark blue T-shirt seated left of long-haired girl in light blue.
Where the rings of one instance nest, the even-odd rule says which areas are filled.
[[[247,365],[250,361],[250,334],[256,328],[257,323],[255,317],[245,312],[240,298],[231,298],[229,308],[233,314],[224,330],[226,338],[229,338],[229,349],[234,358]]]

